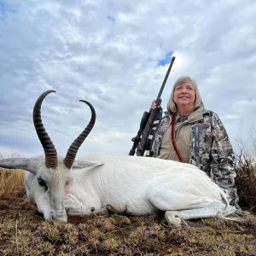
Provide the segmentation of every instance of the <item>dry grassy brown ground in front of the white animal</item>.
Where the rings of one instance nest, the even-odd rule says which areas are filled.
[[[131,217],[109,213],[44,221],[25,189],[0,200],[2,255],[256,255],[256,216],[238,224],[218,218],[171,228],[162,214]]]

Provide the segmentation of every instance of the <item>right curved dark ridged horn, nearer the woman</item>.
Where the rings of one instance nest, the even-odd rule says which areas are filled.
[[[67,154],[64,159],[64,164],[69,169],[73,165],[73,161],[75,160],[76,154],[77,154],[80,146],[82,145],[82,143],[84,143],[84,139],[89,135],[89,133],[92,130],[93,125],[95,124],[95,121],[96,121],[96,112],[95,112],[95,109],[93,108],[93,106],[90,104],[90,102],[86,102],[86,101],[82,101],[82,100],[80,100],[80,102],[84,102],[90,107],[91,117],[90,117],[90,122],[86,126],[84,131],[79,135],[79,137],[77,137],[73,141],[73,143],[67,150]]]

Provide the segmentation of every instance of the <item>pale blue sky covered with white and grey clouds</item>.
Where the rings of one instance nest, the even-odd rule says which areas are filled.
[[[0,154],[44,154],[32,109],[45,90],[42,119],[58,154],[96,108],[78,155],[126,155],[144,111],[178,77],[197,81],[235,150],[253,142],[256,120],[254,0],[0,0]]]

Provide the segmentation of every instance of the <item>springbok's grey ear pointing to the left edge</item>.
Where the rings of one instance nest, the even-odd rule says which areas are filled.
[[[21,169],[36,174],[39,158],[7,158],[0,160],[0,167],[6,169]]]

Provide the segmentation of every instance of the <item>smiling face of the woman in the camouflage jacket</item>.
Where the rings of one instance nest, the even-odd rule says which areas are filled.
[[[195,87],[191,81],[185,81],[177,85],[174,90],[174,102],[179,107],[194,108],[195,104]]]

